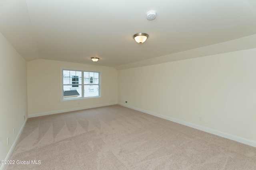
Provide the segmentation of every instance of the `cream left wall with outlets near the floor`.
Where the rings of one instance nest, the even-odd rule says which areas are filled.
[[[14,143],[26,121],[28,104],[26,61],[1,33],[0,75],[0,160],[5,160],[14,149]]]

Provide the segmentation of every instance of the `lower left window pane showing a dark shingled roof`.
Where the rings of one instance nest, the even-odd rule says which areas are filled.
[[[82,97],[82,86],[75,86],[77,87],[72,87],[72,85],[63,86],[63,99],[76,99]]]

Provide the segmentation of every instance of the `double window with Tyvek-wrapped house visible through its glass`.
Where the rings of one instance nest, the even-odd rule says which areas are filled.
[[[100,73],[63,70],[63,100],[100,96]]]

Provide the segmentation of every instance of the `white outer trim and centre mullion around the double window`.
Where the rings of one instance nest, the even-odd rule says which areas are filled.
[[[82,97],[81,98],[74,98],[74,99],[64,99],[64,96],[63,96],[63,70],[70,70],[70,71],[81,71],[82,72],[82,77],[84,75],[84,72],[98,72],[99,73],[99,96],[95,96],[95,97],[86,97],[84,98],[84,93],[82,93]],[[99,70],[80,70],[80,69],[74,69],[74,68],[64,68],[64,67],[61,67],[60,68],[60,102],[68,102],[68,101],[74,101],[74,100],[90,100],[90,99],[94,99],[94,98],[101,98],[101,71]],[[87,85],[87,84],[86,84]],[[84,86],[84,80],[82,80],[82,86]],[[84,88],[82,87],[82,90]]]

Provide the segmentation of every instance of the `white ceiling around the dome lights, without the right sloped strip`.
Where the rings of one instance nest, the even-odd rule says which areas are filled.
[[[0,32],[27,61],[122,69],[256,34],[256,0],[1,0]],[[149,35],[143,44],[132,38],[139,32]]]

